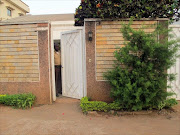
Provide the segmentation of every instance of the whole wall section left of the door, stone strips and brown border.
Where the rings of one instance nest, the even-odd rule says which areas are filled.
[[[0,94],[33,93],[36,104],[52,102],[50,25],[0,23]]]

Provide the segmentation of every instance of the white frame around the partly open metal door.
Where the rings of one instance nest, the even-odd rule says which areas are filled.
[[[71,31],[81,31],[82,34],[82,48],[83,48],[83,96],[87,96],[87,81],[86,81],[86,43],[85,43],[85,29],[84,27],[77,27],[73,30],[67,30],[65,32],[60,32],[59,36],[61,37],[62,33],[70,33]],[[61,53],[62,54],[62,53]],[[63,56],[61,56],[62,59]],[[55,86],[55,68],[54,68],[54,40],[53,40],[53,29],[51,30],[51,90],[52,90],[52,99],[56,101],[56,86]],[[62,72],[61,72],[62,73]],[[63,79],[63,76],[61,74]]]

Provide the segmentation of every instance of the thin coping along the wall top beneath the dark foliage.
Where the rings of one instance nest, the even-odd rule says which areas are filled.
[[[85,22],[97,22],[97,21],[122,21],[122,20],[130,20],[130,18],[120,18],[120,19],[101,19],[101,18],[85,18]],[[168,21],[168,18],[141,18],[134,19],[134,21]]]

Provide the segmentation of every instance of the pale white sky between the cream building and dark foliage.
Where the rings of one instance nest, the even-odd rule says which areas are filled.
[[[30,14],[75,13],[81,0],[22,0],[30,8]]]

